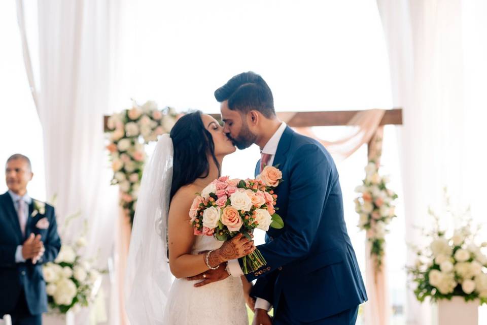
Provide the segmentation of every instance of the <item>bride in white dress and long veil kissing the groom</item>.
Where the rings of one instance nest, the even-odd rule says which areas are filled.
[[[187,279],[255,249],[241,235],[226,242],[195,236],[190,223],[195,193],[220,176],[223,157],[234,151],[217,120],[199,111],[181,117],[158,141],[144,170],[127,260],[132,325],[248,324],[245,304],[253,308],[253,300],[245,277],[204,286]]]

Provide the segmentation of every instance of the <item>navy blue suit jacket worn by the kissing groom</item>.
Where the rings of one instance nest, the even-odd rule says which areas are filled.
[[[260,161],[256,175],[259,166]],[[292,314],[303,322],[366,301],[330,154],[316,140],[286,127],[273,166],[283,173],[275,193],[284,228],[270,228],[266,243],[257,247],[267,264],[246,276],[249,281],[258,278],[253,295],[271,302],[276,312],[284,295]]]

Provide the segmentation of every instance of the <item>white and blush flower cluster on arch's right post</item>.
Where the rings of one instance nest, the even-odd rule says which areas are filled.
[[[365,167],[365,179],[355,191],[360,193],[355,199],[355,211],[359,214],[358,227],[367,231],[371,244],[370,255],[375,257],[377,268],[382,265],[386,243],[387,225],[396,217],[394,201],[397,194],[387,188],[388,176],[380,176],[378,166],[370,160]]]

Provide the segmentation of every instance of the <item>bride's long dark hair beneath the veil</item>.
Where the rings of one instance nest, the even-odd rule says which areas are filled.
[[[208,153],[217,165],[218,174],[220,174],[220,164],[215,156],[213,137],[201,120],[201,111],[182,116],[172,127],[169,136],[174,148],[170,193],[170,200],[172,200],[182,186],[208,176],[210,173]]]

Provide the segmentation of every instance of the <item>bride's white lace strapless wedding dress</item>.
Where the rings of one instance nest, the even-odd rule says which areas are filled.
[[[223,242],[211,236],[197,236],[192,254],[218,249]],[[249,323],[240,278],[195,287],[199,281],[176,279],[164,311],[167,325],[247,325]]]

